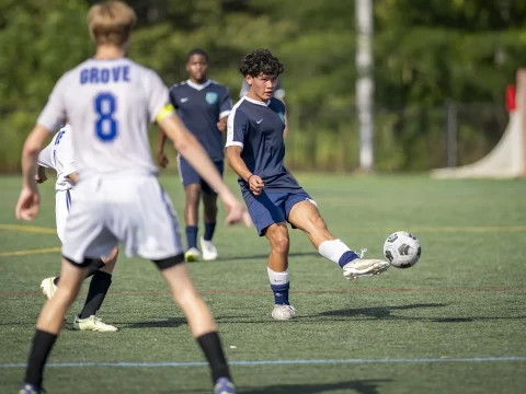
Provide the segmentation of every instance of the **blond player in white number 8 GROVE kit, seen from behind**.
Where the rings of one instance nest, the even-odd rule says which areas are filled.
[[[134,10],[122,1],[90,9],[95,56],[60,78],[24,143],[18,219],[31,221],[38,213],[37,155],[46,136],[65,119],[75,127],[79,183],[66,222],[60,286],[38,316],[22,394],[42,393],[44,366],[85,267],[118,242],[128,256],[151,259],[161,270],[208,360],[214,393],[236,393],[214,317],[190,279],[171,201],[157,179],[148,124],[157,120],[174,148],[217,192],[228,212],[227,223],[250,225],[250,217],[168,104],[168,89],[159,76],[125,57],[135,22]]]

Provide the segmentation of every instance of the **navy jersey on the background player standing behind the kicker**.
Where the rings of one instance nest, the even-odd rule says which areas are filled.
[[[191,80],[170,88],[170,101],[186,128],[197,138],[215,162],[224,158],[219,118],[228,116],[232,101],[227,86],[208,80],[196,84]]]

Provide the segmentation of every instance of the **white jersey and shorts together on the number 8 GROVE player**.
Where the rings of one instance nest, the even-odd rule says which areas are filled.
[[[172,113],[169,103],[157,73],[127,58],[90,59],[57,82],[37,123],[49,130],[71,124],[80,179],[62,242],[71,262],[106,256],[119,242],[128,256],[182,255],[178,220],[148,141],[148,124]]]

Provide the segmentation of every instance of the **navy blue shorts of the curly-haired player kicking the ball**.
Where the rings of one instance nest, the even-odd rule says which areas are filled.
[[[253,197],[254,200],[249,204],[248,209],[260,236],[265,235],[265,230],[271,224],[287,221],[290,209],[297,202],[311,201],[316,205],[307,192],[302,189],[291,193],[263,192],[260,196]]]

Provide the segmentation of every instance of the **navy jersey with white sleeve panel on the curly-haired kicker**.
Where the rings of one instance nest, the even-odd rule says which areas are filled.
[[[227,147],[241,147],[241,159],[247,167],[260,176],[266,193],[301,190],[284,165],[285,105],[277,99],[263,103],[244,96],[228,117]],[[254,197],[249,184],[238,179],[243,198],[250,202]]]

